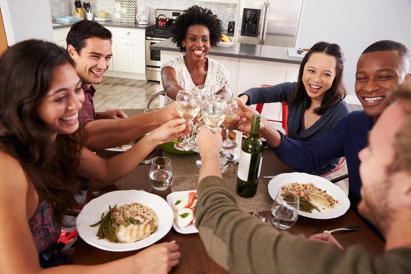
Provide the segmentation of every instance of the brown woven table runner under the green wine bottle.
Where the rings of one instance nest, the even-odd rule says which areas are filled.
[[[163,156],[171,159],[171,166],[173,169],[173,182],[171,184],[171,191],[185,191],[197,189],[198,174],[200,170],[196,165],[196,160],[200,160],[200,155],[178,155],[163,151]],[[246,212],[253,212],[257,207],[263,207],[262,210],[270,210],[270,205],[273,203],[272,198],[268,194],[266,185],[261,180],[258,180],[257,193],[252,198],[240,197],[236,193],[237,186],[237,168],[230,162],[228,171],[222,174],[222,178],[226,181],[231,195],[237,201],[241,210]]]

